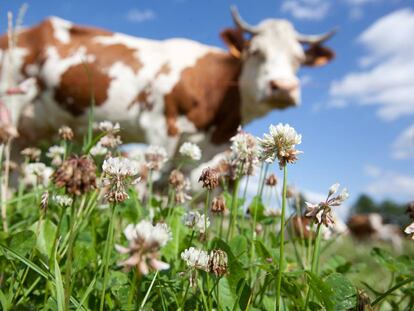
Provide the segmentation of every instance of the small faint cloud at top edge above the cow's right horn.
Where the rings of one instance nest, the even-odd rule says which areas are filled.
[[[328,14],[329,8],[329,0],[285,0],[281,10],[296,19],[321,20]]]

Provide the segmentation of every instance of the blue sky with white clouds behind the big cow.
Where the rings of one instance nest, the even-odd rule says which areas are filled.
[[[6,12],[24,1],[0,3]],[[25,25],[47,16],[134,36],[185,37],[223,47],[219,32],[232,25],[235,4],[251,24],[286,18],[301,33],[339,31],[327,45],[336,59],[304,68],[302,104],[272,111],[245,127],[262,136],[270,124],[289,123],[302,134],[304,153],[289,167],[289,181],[311,197],[334,182],[351,202],[368,193],[377,200],[414,200],[414,2],[412,0],[142,0],[26,1]],[[275,173],[281,176],[277,167]]]

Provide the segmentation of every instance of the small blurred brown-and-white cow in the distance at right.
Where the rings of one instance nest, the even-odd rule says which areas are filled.
[[[395,250],[402,248],[402,230],[394,224],[384,224],[380,214],[354,214],[347,226],[351,235],[359,241],[380,240],[390,242]]]

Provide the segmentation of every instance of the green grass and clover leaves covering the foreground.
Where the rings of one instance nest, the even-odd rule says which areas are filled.
[[[95,133],[87,144],[97,143],[105,135],[108,133]],[[67,143],[80,153],[90,150]],[[111,152],[113,156],[118,153],[116,149]],[[90,160],[96,164],[94,173],[100,181],[108,174],[101,169],[104,157]],[[145,165],[145,161],[131,161]],[[378,310],[409,309],[414,299],[411,241],[404,241],[404,253],[397,254],[387,244],[357,243],[349,236],[322,240],[320,248],[301,234],[292,236],[287,231],[284,237],[280,226],[284,217],[265,212],[267,200],[262,193],[272,190],[264,180],[272,170],[260,170],[261,183],[254,198],[245,197],[245,187],[239,190],[242,193],[232,191],[230,184],[238,189],[239,181],[221,175],[228,191],[203,190],[194,196],[204,199],[178,203],[172,194],[181,188],[156,189],[151,180],[141,180],[146,190],[141,187],[138,191],[131,183],[136,176],[122,180],[128,198],[109,206],[105,193],[124,188],[115,185],[109,189],[98,182],[97,189],[76,195],[71,206],[63,206],[56,195],[68,195],[69,188],[59,188],[53,180],[48,185],[23,186],[3,201],[8,231],[0,231],[2,308],[275,310],[280,306],[280,310],[357,310],[364,293]],[[238,172],[242,171],[239,167]],[[45,210],[39,210],[45,191],[49,202]],[[224,196],[231,213],[210,212],[211,201],[218,194]],[[286,209],[288,229],[291,216],[302,212],[293,207],[292,199],[279,195],[279,202],[289,201],[292,207]],[[249,206],[251,216],[244,206]],[[208,214],[210,226],[205,234],[200,233],[200,226],[207,225],[204,218],[193,227],[184,224],[188,211]],[[166,243],[156,227],[148,229],[155,230],[153,240],[128,240],[124,229],[143,220],[165,224]],[[257,225],[261,230],[257,231]],[[318,227],[314,225],[313,230]],[[118,253],[114,244],[131,247],[129,253]],[[190,246],[207,252],[207,266],[187,265],[181,258]],[[217,250],[225,257],[213,261]],[[138,261],[122,265],[134,254]],[[168,269],[157,269],[160,261]]]

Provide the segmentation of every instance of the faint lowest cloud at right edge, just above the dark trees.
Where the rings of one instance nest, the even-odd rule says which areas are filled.
[[[374,166],[371,167],[375,168]],[[414,176],[404,175],[394,171],[382,171],[375,168],[375,176],[365,191],[371,195],[382,197],[394,196],[399,199],[412,198],[414,189]]]

